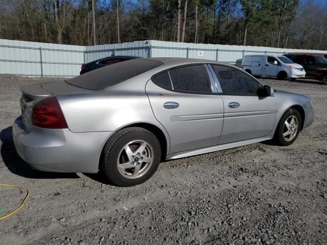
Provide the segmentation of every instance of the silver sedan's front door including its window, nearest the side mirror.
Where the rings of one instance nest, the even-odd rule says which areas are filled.
[[[224,126],[219,144],[273,134],[275,96],[258,96],[262,84],[240,69],[214,64],[212,67],[224,102]]]

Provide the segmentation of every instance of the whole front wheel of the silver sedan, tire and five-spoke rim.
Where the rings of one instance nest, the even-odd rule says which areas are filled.
[[[301,115],[294,108],[288,109],[278,122],[274,139],[279,145],[292,144],[299,132],[302,125]]]

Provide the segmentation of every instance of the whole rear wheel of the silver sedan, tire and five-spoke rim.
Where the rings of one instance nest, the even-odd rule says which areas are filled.
[[[101,168],[118,186],[141,184],[155,173],[160,163],[158,139],[143,128],[126,128],[116,132],[105,144]]]

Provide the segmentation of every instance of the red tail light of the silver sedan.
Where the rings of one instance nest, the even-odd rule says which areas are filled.
[[[49,97],[33,107],[32,123],[46,129],[67,129],[67,122],[56,97]]]

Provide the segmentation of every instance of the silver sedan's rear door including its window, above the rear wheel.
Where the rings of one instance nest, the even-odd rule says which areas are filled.
[[[224,106],[213,83],[205,64],[175,67],[148,81],[146,93],[169,134],[170,154],[218,144]]]

